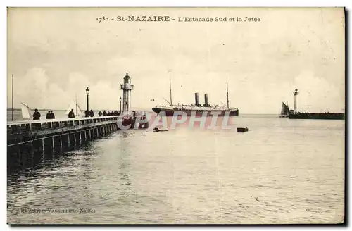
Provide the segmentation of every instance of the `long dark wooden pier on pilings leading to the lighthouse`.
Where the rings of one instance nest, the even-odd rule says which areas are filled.
[[[80,146],[83,142],[104,137],[120,129],[134,127],[135,119],[122,116],[26,120],[7,123],[8,166],[23,166],[35,153]],[[147,128],[148,123],[138,128]]]

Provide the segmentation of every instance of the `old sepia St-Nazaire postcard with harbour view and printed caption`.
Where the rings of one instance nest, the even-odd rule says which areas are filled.
[[[8,8],[7,223],[344,223],[345,15]]]

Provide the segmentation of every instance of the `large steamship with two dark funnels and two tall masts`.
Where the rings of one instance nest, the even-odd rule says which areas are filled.
[[[165,113],[165,116],[173,116],[175,112],[187,113],[187,116],[239,116],[238,108],[229,107],[229,89],[226,82],[226,91],[227,91],[227,106],[211,106],[208,101],[208,94],[204,94],[204,104],[199,104],[199,94],[195,93],[195,104],[184,105],[184,104],[172,104],[172,94],[171,94],[171,81],[170,81],[170,102],[168,106],[157,105],[152,108],[153,112]],[[165,100],[166,101],[166,100]]]

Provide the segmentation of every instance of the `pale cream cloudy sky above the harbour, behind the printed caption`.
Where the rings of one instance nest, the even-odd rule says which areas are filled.
[[[170,22],[117,22],[168,15]],[[99,23],[96,18],[110,18]],[[226,22],[178,22],[178,17]],[[256,17],[260,22],[230,22]],[[226,103],[240,113],[344,111],[343,8],[8,8],[8,108],[118,110],[129,73],[132,108]],[[154,99],[154,101],[151,101]]]

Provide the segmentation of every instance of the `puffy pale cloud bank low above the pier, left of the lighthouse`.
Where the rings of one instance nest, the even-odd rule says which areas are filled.
[[[67,109],[77,96],[81,108],[86,108],[85,89],[89,87],[90,108],[118,109],[120,94],[111,86],[111,82],[100,80],[92,84],[89,77],[75,72],[70,73],[67,87],[63,89],[55,83],[50,83],[49,79],[43,68],[31,68],[20,81],[15,79],[15,106],[19,107],[20,102],[23,102],[31,108]]]

